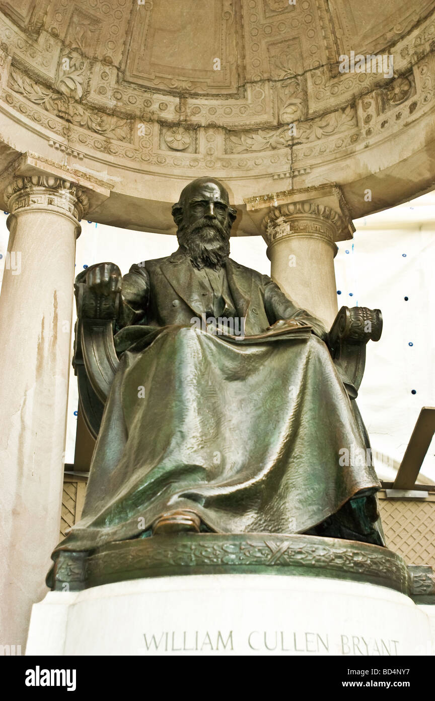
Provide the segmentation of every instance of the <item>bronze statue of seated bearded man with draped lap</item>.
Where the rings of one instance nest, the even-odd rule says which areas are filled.
[[[325,327],[229,258],[236,210],[220,182],[194,180],[172,212],[171,256],[122,279],[113,264],[80,273],[88,306],[120,299],[120,365],[82,519],[57,551],[177,532],[384,545],[371,459],[341,459],[369,442]]]

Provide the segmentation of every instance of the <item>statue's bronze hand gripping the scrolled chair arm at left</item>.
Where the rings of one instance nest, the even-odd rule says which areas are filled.
[[[79,315],[91,319],[115,319],[120,304],[121,271],[114,263],[87,268],[77,280]]]

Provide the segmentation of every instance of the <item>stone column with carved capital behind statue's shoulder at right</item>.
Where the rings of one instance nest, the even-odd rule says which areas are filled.
[[[246,203],[257,219],[262,215],[257,223],[268,244],[271,277],[329,329],[338,312],[335,241],[352,238],[355,231],[340,189],[335,184],[310,187]]]

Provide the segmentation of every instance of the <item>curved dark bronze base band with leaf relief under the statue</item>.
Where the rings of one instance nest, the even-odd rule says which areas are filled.
[[[432,568],[354,540],[281,533],[186,533],[135,538],[92,552],[60,552],[50,572],[55,591],[78,591],[144,577],[281,574],[389,587],[416,603],[435,604]]]

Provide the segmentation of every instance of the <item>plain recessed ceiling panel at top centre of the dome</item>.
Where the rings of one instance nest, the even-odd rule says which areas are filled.
[[[243,51],[231,0],[136,4],[130,26],[127,81],[206,95],[237,93]]]

